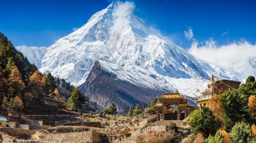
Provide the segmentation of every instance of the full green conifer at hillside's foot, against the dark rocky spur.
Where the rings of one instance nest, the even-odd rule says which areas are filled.
[[[81,99],[83,99],[83,98],[81,98],[81,96],[82,96],[81,91],[76,87],[72,91],[72,93],[69,97],[69,100],[68,100],[71,110],[73,110],[75,108],[81,108],[79,106],[80,104],[82,104],[81,102],[83,102],[83,101],[81,101]]]

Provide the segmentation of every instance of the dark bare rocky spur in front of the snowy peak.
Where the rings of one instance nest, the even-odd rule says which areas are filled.
[[[132,77],[130,77],[130,82],[127,81],[128,79],[122,80],[122,78],[119,77],[121,76],[118,74],[119,71],[110,70],[109,67],[106,66],[107,62],[109,61],[95,61],[86,82],[79,86],[79,89],[85,93],[91,101],[95,101],[101,106],[106,106],[111,102],[115,102],[119,109],[123,109],[127,106],[135,105],[143,101],[150,102],[154,96],[160,95],[164,92],[157,88],[154,89],[143,86],[141,83],[144,81],[140,82],[139,78],[132,79]],[[115,66],[118,67],[117,64],[112,64],[111,68],[114,68]],[[141,73],[141,75],[142,74],[147,73]],[[123,73],[123,75],[128,74]],[[137,84],[134,82],[137,82]],[[152,84],[152,87],[154,84],[156,85],[156,83],[150,84]]]

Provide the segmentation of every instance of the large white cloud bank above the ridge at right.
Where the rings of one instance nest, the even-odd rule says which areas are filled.
[[[204,44],[200,44],[197,41],[192,42],[188,52],[206,61],[219,64],[234,63],[236,60],[244,60],[252,56],[256,57],[256,45],[251,45],[246,40],[240,40],[229,45],[218,46],[217,42],[210,38]]]

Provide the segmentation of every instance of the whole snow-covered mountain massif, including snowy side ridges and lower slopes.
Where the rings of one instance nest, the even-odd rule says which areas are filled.
[[[142,87],[143,90],[135,95],[147,93],[144,89],[153,89],[156,93],[157,90],[162,92],[171,88],[183,92],[195,85],[205,88],[200,83],[208,80],[212,73],[226,79],[245,78],[240,76],[241,72],[237,69],[205,62],[189,54],[147,26],[133,10],[131,2],[112,3],[92,15],[81,28],[57,40],[45,53],[42,52],[43,56],[32,56],[38,55],[40,50],[30,51],[28,48],[28,51],[20,51],[29,61],[36,63],[42,73],[50,72],[76,86],[82,84],[85,87],[80,86],[81,90],[92,86],[88,92],[96,91],[95,84],[85,82],[90,72],[93,75],[91,69],[95,61],[100,62],[101,69],[115,75],[108,80],[115,83],[115,87],[119,83],[129,83],[128,89]],[[255,73],[255,59],[248,60],[246,64],[251,67],[247,68],[248,74]],[[123,83],[113,80],[121,80]],[[107,86],[102,80],[100,84]],[[116,90],[119,91],[119,88]],[[105,93],[99,91],[95,94]],[[94,97],[96,101],[98,97]]]

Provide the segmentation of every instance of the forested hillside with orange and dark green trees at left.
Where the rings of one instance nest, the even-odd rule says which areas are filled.
[[[86,97],[79,101],[79,97],[68,102],[70,95],[80,91],[74,90],[71,94],[74,86],[70,82],[53,77],[51,73],[40,73],[3,33],[0,33],[0,87],[2,108],[16,113],[52,113],[59,106],[70,107],[88,101]]]

